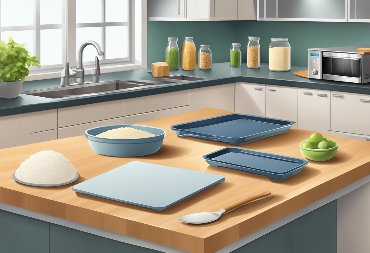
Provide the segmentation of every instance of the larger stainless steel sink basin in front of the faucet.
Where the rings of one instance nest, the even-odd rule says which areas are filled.
[[[44,98],[72,98],[92,94],[106,94],[122,90],[134,90],[145,87],[145,84],[127,81],[107,81],[88,84],[77,84],[58,88],[50,88],[37,91],[25,91],[22,94],[34,95]]]

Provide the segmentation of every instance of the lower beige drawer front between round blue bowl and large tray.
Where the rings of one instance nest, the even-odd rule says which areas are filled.
[[[158,119],[162,117],[172,116],[184,112],[189,112],[189,106],[182,106],[177,108],[165,109],[155,112],[147,112],[137,115],[125,116],[125,124],[136,124],[138,122],[149,121],[152,119]]]

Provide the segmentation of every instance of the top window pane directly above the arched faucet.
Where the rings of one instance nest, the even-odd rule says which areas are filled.
[[[102,22],[101,0],[76,0],[76,23]]]

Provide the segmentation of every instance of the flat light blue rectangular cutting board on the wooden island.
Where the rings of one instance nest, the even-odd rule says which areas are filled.
[[[134,161],[72,190],[161,211],[223,181],[221,175]]]

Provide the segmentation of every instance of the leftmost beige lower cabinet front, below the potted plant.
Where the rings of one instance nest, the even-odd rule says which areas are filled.
[[[0,148],[57,138],[57,109],[0,117]]]

